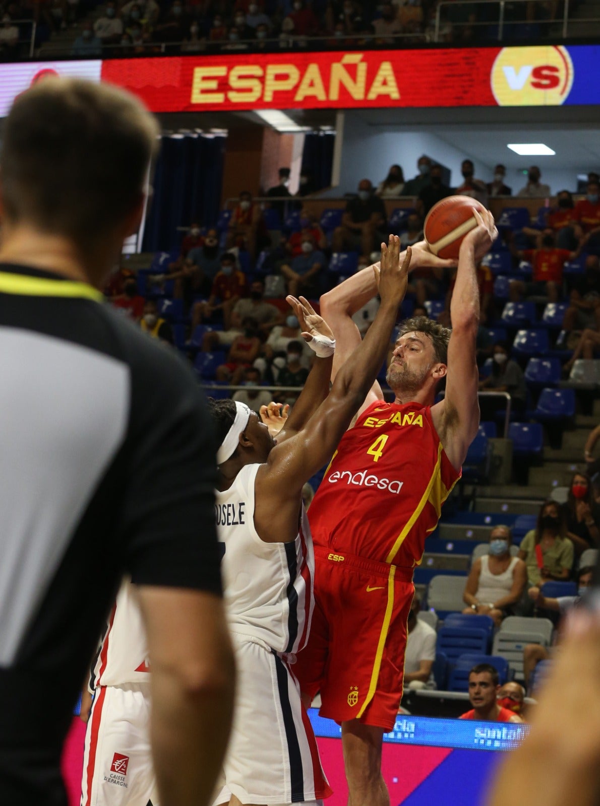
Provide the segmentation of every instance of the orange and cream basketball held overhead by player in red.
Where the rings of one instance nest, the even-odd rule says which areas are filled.
[[[423,232],[434,255],[458,257],[463,238],[477,226],[473,210],[482,212],[485,208],[469,196],[448,196],[431,207]]]

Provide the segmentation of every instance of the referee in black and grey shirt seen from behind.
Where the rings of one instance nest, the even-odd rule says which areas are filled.
[[[62,806],[62,743],[124,573],[152,663],[160,806],[210,799],[231,721],[215,450],[194,376],[102,304],[158,130],[48,77],[0,153],[0,804]]]

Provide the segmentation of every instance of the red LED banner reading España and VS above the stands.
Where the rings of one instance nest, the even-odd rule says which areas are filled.
[[[222,53],[0,65],[0,116],[48,73],[111,81],[154,112],[600,104],[600,45]]]

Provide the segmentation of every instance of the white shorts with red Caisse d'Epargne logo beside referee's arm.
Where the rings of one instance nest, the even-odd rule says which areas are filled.
[[[85,731],[81,806],[158,806],[150,686],[100,686]]]

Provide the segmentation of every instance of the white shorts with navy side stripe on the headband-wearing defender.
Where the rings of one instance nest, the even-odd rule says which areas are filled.
[[[231,739],[215,804],[304,804],[331,794],[298,681],[263,642],[232,636],[237,690]],[[221,788],[226,787],[226,788]]]

